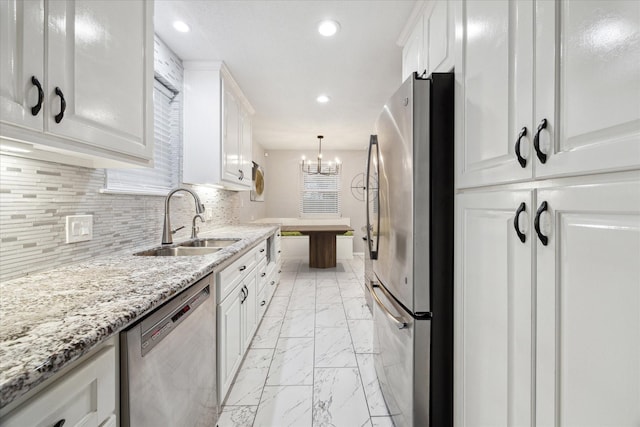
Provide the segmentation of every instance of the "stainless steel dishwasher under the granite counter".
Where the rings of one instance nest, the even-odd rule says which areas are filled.
[[[213,274],[120,334],[123,427],[215,426]]]

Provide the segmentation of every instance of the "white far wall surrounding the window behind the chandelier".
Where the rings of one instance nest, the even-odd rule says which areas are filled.
[[[366,138],[365,138],[366,142]],[[265,216],[298,217],[300,158],[304,154],[314,159],[317,151],[267,150],[265,169]],[[342,161],[341,202],[342,216],[351,219],[354,229],[353,251],[364,252],[362,228],[366,223],[365,202],[357,200],[351,191],[351,182],[358,174],[365,172],[367,152],[363,150],[328,151],[323,150],[327,160],[338,157]],[[355,190],[354,190],[355,192]]]

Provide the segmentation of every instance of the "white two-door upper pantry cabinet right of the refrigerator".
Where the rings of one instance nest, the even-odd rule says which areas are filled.
[[[640,2],[456,6],[459,188],[640,166]]]

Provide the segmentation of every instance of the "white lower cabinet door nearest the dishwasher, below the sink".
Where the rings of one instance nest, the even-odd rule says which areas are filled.
[[[218,306],[218,396],[224,401],[242,360],[242,286]]]

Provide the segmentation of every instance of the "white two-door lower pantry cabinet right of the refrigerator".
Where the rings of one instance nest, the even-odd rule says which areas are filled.
[[[455,425],[638,426],[640,174],[460,194],[456,224]]]

